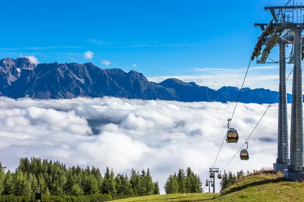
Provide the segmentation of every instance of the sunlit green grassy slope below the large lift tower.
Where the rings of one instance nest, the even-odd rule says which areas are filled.
[[[220,194],[178,193],[133,197],[114,201],[304,201],[304,183],[287,181],[282,173],[259,171],[241,178]]]

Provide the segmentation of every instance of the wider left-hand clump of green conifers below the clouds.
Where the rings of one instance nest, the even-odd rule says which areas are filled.
[[[1,162],[0,162],[1,166]],[[132,169],[127,174],[117,174],[106,168],[104,175],[99,168],[66,167],[58,161],[52,162],[40,158],[22,158],[15,171],[0,171],[0,195],[33,197],[40,185],[44,196],[86,196],[104,194],[108,199],[126,198],[159,194],[158,182],[142,170],[142,174]],[[1,201],[1,200],[0,200]]]

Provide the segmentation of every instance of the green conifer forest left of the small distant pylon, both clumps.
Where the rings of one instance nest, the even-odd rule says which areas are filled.
[[[5,173],[0,169],[0,202],[35,201],[38,185],[42,201],[109,201],[160,193],[158,181],[153,181],[149,169],[115,175],[106,168],[102,174],[94,166],[67,168],[58,161],[22,158],[15,171]],[[164,187],[166,193],[203,192],[199,176],[190,168],[170,175]]]

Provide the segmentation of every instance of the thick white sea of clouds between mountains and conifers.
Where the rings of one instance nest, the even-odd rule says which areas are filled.
[[[236,154],[268,105],[238,103],[231,127],[238,143],[224,141],[215,167]],[[181,103],[123,98],[39,100],[0,97],[0,161],[14,170],[22,157],[60,161],[66,166],[106,167],[130,174],[149,168],[160,191],[170,174],[187,167],[205,184],[235,103]],[[290,112],[291,105],[288,105]],[[289,125],[290,125],[290,113]],[[249,141],[249,161],[239,154],[226,171],[273,167],[277,158],[278,105],[263,117]],[[216,184],[219,180],[216,179]],[[206,191],[207,187],[203,185]],[[217,185],[216,191],[219,191]]]

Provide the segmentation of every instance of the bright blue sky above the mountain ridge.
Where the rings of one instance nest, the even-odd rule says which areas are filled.
[[[146,77],[239,70],[247,67],[261,33],[253,24],[272,19],[264,6],[286,3],[4,1],[0,58],[33,55],[41,63],[92,62],[101,68],[133,69]],[[93,55],[84,58],[87,51]],[[252,61],[252,67],[258,66]],[[198,70],[204,68],[210,71]],[[277,74],[278,69],[255,73]]]

